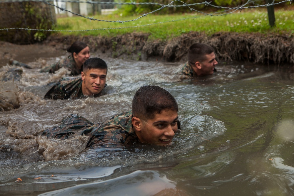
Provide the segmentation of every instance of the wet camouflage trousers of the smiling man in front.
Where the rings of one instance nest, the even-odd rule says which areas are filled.
[[[99,123],[94,124],[77,114],[71,114],[69,117],[62,119],[61,125],[44,130],[42,135],[47,136],[48,139],[58,138],[64,140],[68,139],[72,134],[87,135],[97,125]]]

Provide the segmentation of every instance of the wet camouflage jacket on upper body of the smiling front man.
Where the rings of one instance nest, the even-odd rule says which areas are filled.
[[[133,130],[132,110],[113,116],[99,126],[94,126],[89,133],[90,140],[86,148],[91,146],[126,145],[137,142],[138,137]]]

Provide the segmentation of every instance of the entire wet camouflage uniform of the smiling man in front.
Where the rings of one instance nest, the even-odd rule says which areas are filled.
[[[91,123],[86,118],[71,114],[63,118],[59,126],[44,130],[42,135],[48,139],[67,139],[72,134],[89,135],[90,140],[86,148],[90,146],[125,145],[130,141],[138,141],[133,130],[132,111],[113,116],[105,123]]]

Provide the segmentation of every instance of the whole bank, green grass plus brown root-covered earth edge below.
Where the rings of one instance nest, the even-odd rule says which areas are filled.
[[[45,42],[62,43],[64,49],[76,40],[109,57],[132,60],[186,61],[188,48],[196,42],[215,48],[224,60],[263,64],[294,64],[294,12],[275,10],[276,25],[269,26],[267,9],[246,9],[223,16],[204,14],[150,14],[122,17],[116,14],[59,18]],[[96,30],[92,30],[96,29]],[[71,31],[71,32],[68,32]]]

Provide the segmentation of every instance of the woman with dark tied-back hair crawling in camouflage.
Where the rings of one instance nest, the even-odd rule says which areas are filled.
[[[46,66],[41,69],[41,72],[49,72],[54,73],[59,70],[61,67],[66,68],[71,71],[69,76],[76,76],[81,74],[83,63],[90,58],[90,49],[86,43],[81,41],[75,41],[67,51],[71,53],[71,55],[67,56],[64,59],[61,59],[57,63]]]

